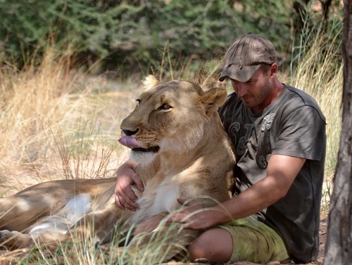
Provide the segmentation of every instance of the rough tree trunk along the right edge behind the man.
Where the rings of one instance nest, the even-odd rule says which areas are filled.
[[[342,128],[327,226],[326,265],[352,264],[352,0],[344,0],[343,34]]]

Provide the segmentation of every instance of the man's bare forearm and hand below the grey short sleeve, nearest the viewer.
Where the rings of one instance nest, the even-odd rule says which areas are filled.
[[[206,208],[186,220],[184,218],[190,212],[184,210],[173,214],[169,221],[184,223],[182,224],[184,228],[201,229],[256,214],[284,198],[304,162],[305,158],[272,155],[268,163],[267,176],[236,197],[223,202],[222,205]]]

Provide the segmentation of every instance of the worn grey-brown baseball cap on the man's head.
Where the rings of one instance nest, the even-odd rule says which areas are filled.
[[[248,33],[234,40],[225,54],[225,67],[219,80],[231,78],[247,82],[261,64],[276,62],[276,52],[272,43],[257,34]]]

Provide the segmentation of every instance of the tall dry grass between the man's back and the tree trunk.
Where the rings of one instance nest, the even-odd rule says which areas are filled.
[[[327,121],[327,152],[325,160],[325,182],[322,194],[322,212],[329,210],[332,194],[332,178],[337,164],[337,153],[341,134],[343,68],[341,43],[341,22],[338,30],[312,36],[309,45],[299,46],[302,56],[298,66],[289,77],[289,84],[313,96],[320,105]],[[306,34],[308,35],[308,33]]]

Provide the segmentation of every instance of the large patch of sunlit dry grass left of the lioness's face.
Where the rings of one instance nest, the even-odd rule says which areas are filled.
[[[39,67],[3,68],[0,79],[0,194],[49,179],[111,176],[125,160],[118,127],[139,82],[87,77],[53,53]]]

